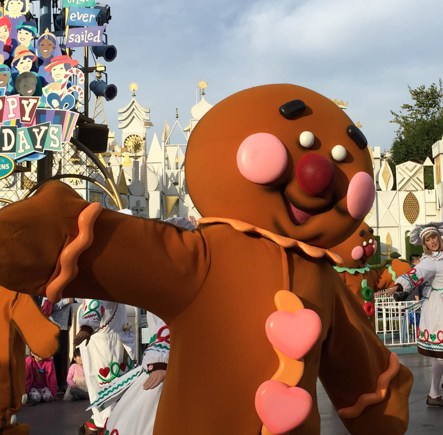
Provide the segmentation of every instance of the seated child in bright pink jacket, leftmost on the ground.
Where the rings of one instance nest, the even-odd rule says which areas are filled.
[[[27,404],[52,402],[57,398],[57,378],[52,358],[33,354],[26,358]]]

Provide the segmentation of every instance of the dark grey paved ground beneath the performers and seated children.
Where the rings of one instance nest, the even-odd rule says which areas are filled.
[[[426,405],[432,359],[425,358],[417,353],[399,355],[399,359],[414,374],[414,383],[409,402],[410,424],[406,434],[442,435],[443,408]],[[319,382],[317,384],[317,393],[318,407],[321,415],[321,434],[348,434]],[[76,435],[78,424],[84,422],[91,415],[91,412],[85,411],[88,405],[86,401],[66,402],[59,400],[50,404],[24,406],[18,413],[18,421],[31,425],[31,435]]]

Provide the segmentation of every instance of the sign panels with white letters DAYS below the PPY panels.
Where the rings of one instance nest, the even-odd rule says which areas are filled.
[[[62,151],[62,125],[0,126],[0,153],[14,155],[17,160],[32,153],[44,154],[45,151]]]

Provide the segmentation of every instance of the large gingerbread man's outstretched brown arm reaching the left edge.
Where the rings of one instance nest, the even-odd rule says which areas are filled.
[[[85,224],[92,245],[79,251],[78,260],[68,258],[66,266],[63,252],[78,240],[79,216],[88,206],[94,204],[69,186],[48,182],[31,198],[1,209],[0,260],[7,272],[0,275],[0,285],[39,295],[47,290],[53,301],[62,291],[64,296],[105,301],[118,301],[125,292],[126,303],[143,307],[151,301],[146,308],[165,321],[182,311],[199,291],[210,264],[201,233],[104,209]],[[49,290],[63,267],[77,265],[67,285]],[[24,274],[32,282],[24,282]]]

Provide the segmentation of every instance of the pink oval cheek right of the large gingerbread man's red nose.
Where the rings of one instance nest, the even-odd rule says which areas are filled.
[[[374,180],[367,172],[357,172],[349,182],[346,200],[354,219],[363,219],[374,204]]]

